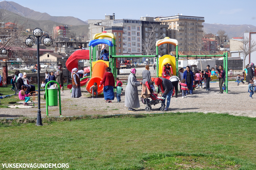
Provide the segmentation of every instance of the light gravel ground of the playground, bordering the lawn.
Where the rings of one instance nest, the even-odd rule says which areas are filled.
[[[61,110],[63,116],[82,116],[92,114],[150,114],[150,113],[162,113],[157,108],[161,104],[152,106],[150,112],[146,112],[145,106],[140,102],[140,108],[136,109],[136,112],[128,112],[127,107],[124,106],[124,91],[121,96],[121,102],[117,103],[116,97],[113,103],[105,103],[102,97],[98,99],[92,99],[89,92],[82,87],[82,97],[71,98],[69,90],[65,90],[61,93]],[[256,97],[249,98],[248,84],[237,86],[236,82],[229,83],[229,93],[219,94],[219,83],[211,83],[211,90],[206,91],[203,88],[196,89],[193,95],[187,96],[187,98],[181,98],[181,94],[178,94],[178,98],[172,98],[168,112],[203,112],[203,113],[229,113],[236,116],[248,116],[256,117],[256,110],[254,108],[256,103]],[[141,88],[139,87],[139,94]],[[42,92],[44,94],[44,92]],[[43,97],[43,95],[41,95]],[[248,105],[248,102],[251,105]],[[248,107],[249,106],[249,107]],[[251,107],[250,107],[251,106]],[[49,106],[49,116],[59,116],[59,106]],[[46,116],[45,103],[41,104],[42,117]],[[0,118],[10,117],[37,117],[37,108],[1,108]]]

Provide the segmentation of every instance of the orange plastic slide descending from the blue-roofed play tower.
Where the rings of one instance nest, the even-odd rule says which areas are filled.
[[[108,64],[106,64],[106,61],[98,60],[93,62],[93,73],[91,75],[91,79],[86,85],[86,90],[90,92],[90,87],[93,86],[94,83],[97,83],[98,86],[98,94],[101,94],[103,91],[103,85],[99,87],[99,84],[101,84],[103,75],[106,72],[106,68],[108,67]],[[96,94],[95,94],[96,95]]]

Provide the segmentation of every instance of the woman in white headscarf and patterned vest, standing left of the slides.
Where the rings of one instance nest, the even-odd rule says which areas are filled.
[[[71,93],[71,97],[73,97],[73,98],[79,98],[79,97],[82,96],[81,88],[80,88],[80,76],[77,72],[78,72],[77,68],[73,68],[72,72],[71,72],[71,75],[72,75],[72,93]]]

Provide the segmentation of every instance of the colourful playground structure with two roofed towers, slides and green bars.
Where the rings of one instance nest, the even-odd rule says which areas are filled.
[[[105,68],[110,67],[111,72],[114,75],[114,78],[117,77],[117,58],[127,58],[127,56],[116,56],[116,37],[112,33],[107,33],[106,31],[103,31],[102,33],[94,34],[94,39],[90,41],[89,43],[89,50],[78,50],[74,52],[67,60],[67,68],[69,71],[71,71],[73,68],[78,66],[79,60],[90,60],[90,76],[86,78],[82,78],[81,80],[81,86],[84,86],[88,82],[88,78],[90,78],[89,82],[87,83],[86,89],[87,91],[90,91],[90,87],[93,85],[94,82],[97,82],[97,84],[100,83],[100,81],[103,78],[103,75],[105,73]],[[111,38],[112,42],[103,39],[103,38]],[[107,44],[109,46],[109,62],[98,60],[97,61],[97,50],[99,44]],[[163,44],[172,44],[176,47],[176,54],[173,56],[171,55],[164,55],[162,57],[158,58],[158,48],[159,46]],[[91,57],[90,57],[91,56]],[[224,52],[223,55],[191,55],[191,56],[185,56],[185,55],[178,55],[178,41],[176,39],[171,39],[169,37],[165,37],[163,39],[159,39],[156,42],[156,55],[138,55],[138,56],[132,56],[133,58],[138,57],[155,57],[157,60],[157,77],[162,76],[163,78],[169,79],[169,76],[163,75],[163,67],[165,67],[166,64],[170,64],[172,68],[170,69],[170,73],[173,75],[178,75],[178,59],[179,57],[223,57],[224,67],[223,69],[226,72],[226,80],[224,80],[224,83],[226,85],[226,90],[224,90],[226,93],[228,93],[228,86],[227,86],[227,73],[228,73],[228,67],[227,67],[227,52]],[[96,73],[94,73],[96,71]],[[215,77],[214,77],[215,78]],[[216,77],[217,78],[217,77]],[[100,94],[103,91],[103,88],[98,88],[98,93]]]

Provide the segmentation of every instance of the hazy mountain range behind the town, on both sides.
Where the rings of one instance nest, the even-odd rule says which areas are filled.
[[[89,25],[86,21],[82,21],[79,18],[73,16],[50,16],[47,13],[41,13],[30,8],[23,7],[13,1],[1,1],[0,8],[10,11],[10,20],[19,17],[21,23],[27,22],[27,27],[34,29],[36,27],[42,28],[44,31],[51,33],[54,26],[69,25],[71,31],[74,31],[76,35],[84,35],[89,31]],[[89,19],[89,18],[88,18]],[[256,32],[256,26],[253,25],[227,25],[219,23],[203,23],[203,30],[205,33],[217,34],[218,30],[224,30],[229,38],[241,37],[244,32]]]

